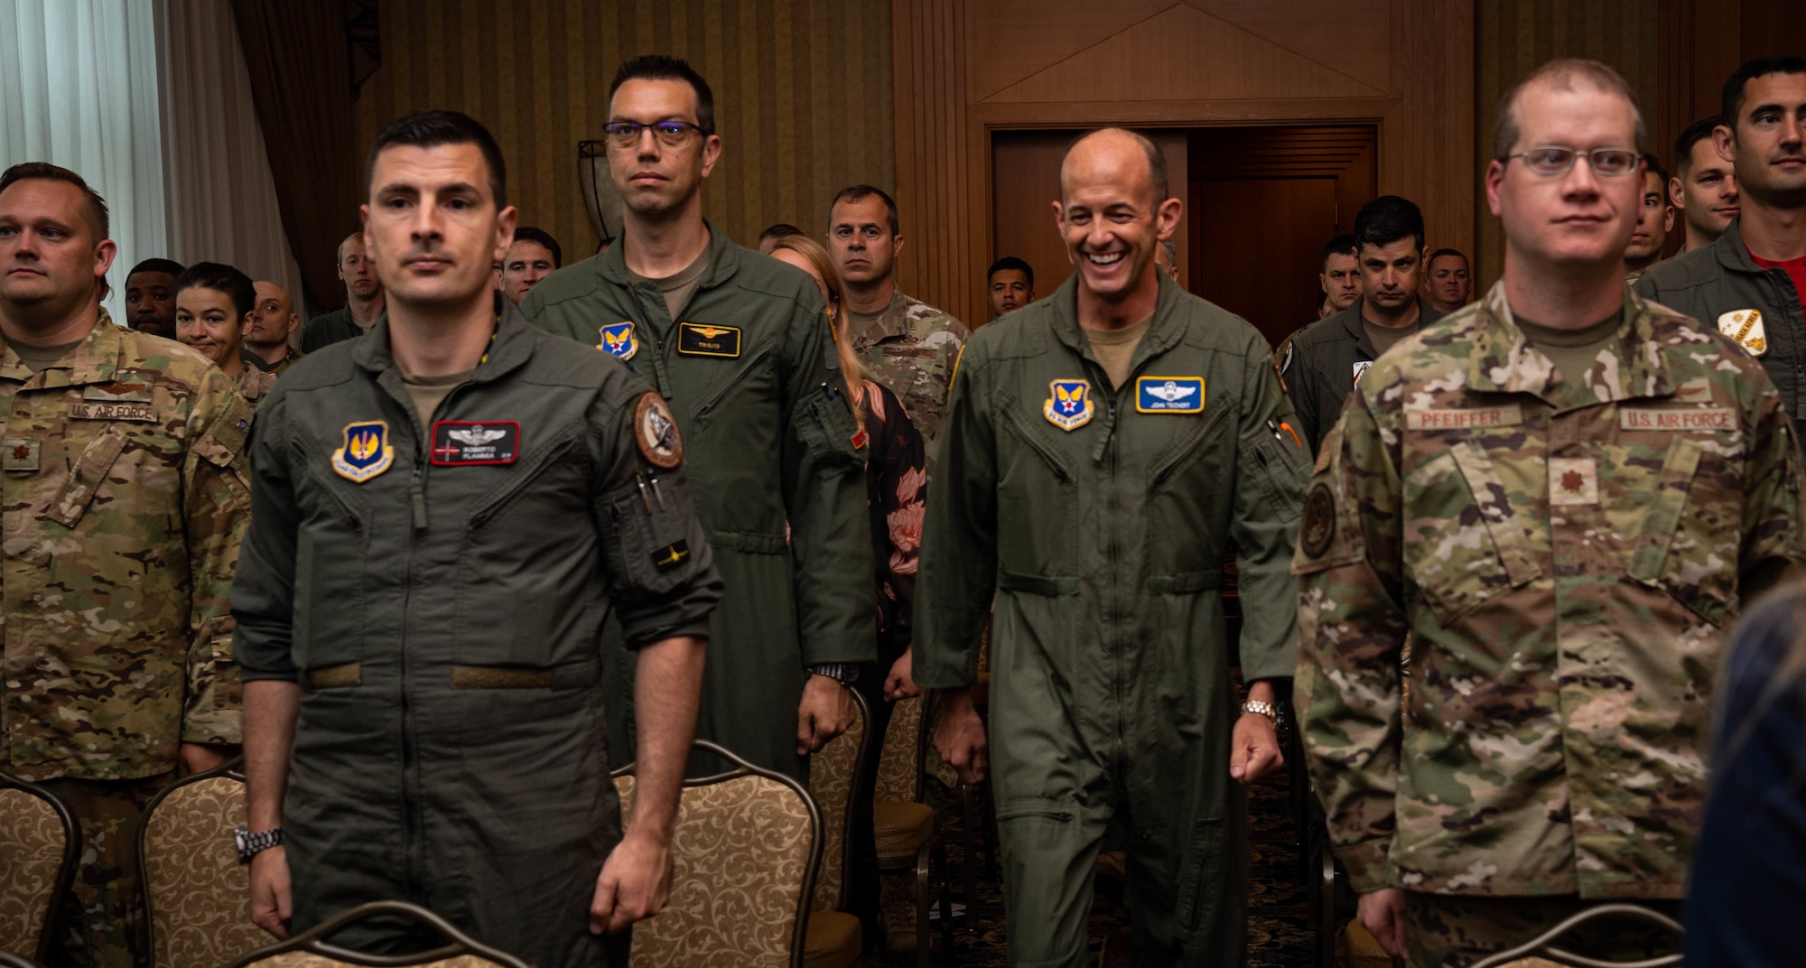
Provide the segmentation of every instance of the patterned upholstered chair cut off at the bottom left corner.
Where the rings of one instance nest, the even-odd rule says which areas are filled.
[[[43,787],[0,773],[0,952],[49,961],[81,829]]]

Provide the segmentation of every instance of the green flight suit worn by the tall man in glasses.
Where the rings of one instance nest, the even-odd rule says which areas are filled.
[[[697,735],[805,780],[805,668],[878,657],[865,446],[822,294],[800,269],[712,229],[708,269],[672,320],[657,285],[627,271],[628,246],[540,280],[520,309],[614,354],[670,401],[728,583],[710,623]],[[609,675],[625,695],[630,668]]]

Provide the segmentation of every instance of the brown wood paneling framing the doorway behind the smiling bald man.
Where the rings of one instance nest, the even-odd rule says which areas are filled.
[[[1472,4],[892,0],[899,282],[986,318],[991,132],[1100,125],[1378,125],[1380,191],[1423,206],[1432,244],[1472,251]]]

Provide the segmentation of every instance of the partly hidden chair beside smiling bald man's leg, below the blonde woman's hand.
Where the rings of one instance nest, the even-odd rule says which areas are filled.
[[[925,695],[899,699],[890,712],[890,728],[885,730],[885,742],[878,753],[878,791],[872,798],[872,825],[878,834],[878,870],[881,874],[905,874],[914,878],[914,941],[916,961],[923,968],[930,963],[928,946],[928,903],[936,890],[928,883],[930,858],[946,870],[946,858],[941,851],[941,838],[934,829],[934,807],[921,802],[921,780],[928,753],[926,735],[928,706]],[[894,925],[896,905],[885,892],[885,923]],[[952,959],[954,952],[954,914],[946,890],[939,890],[941,899],[941,948]],[[901,948],[905,935],[892,934],[890,948]]]

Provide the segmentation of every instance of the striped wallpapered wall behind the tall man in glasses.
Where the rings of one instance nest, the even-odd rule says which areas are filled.
[[[356,103],[359,159],[403,114],[462,110],[500,143],[522,224],[551,231],[567,260],[596,246],[576,144],[601,137],[609,81],[638,54],[686,58],[710,81],[726,148],[704,199],[737,242],[773,222],[825,235],[834,191],[896,182],[885,0],[385,0],[379,11],[383,65]],[[347,231],[356,219],[345,213]]]

